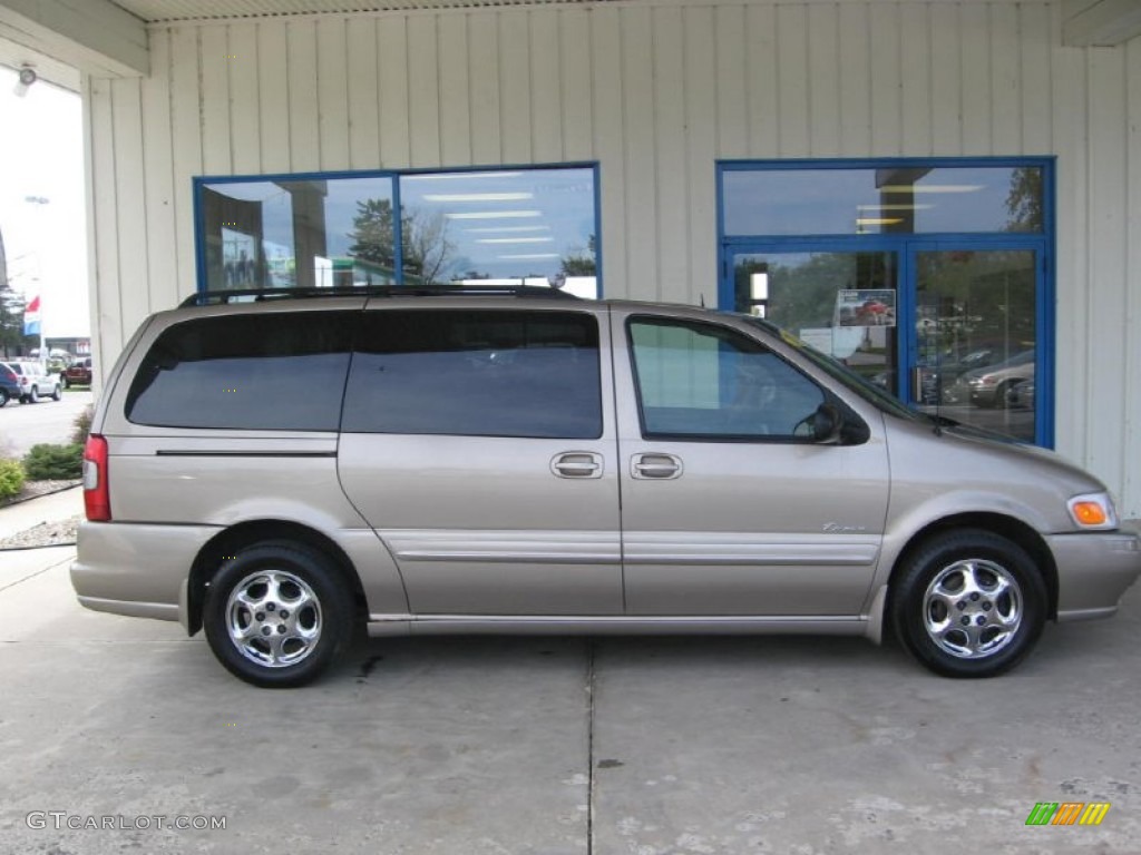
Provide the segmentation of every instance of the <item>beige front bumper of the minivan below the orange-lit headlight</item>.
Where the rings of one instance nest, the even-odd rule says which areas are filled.
[[[1058,620],[1109,617],[1141,576],[1141,538],[1131,531],[1052,535],[1058,563]]]

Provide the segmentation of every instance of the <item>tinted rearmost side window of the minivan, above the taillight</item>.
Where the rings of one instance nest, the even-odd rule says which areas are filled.
[[[353,312],[200,318],[163,332],[127,417],[162,427],[335,431]]]

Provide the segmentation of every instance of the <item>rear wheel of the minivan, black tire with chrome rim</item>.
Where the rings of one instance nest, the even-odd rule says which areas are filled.
[[[222,564],[202,614],[218,661],[267,689],[316,679],[346,646],[351,624],[348,588],[330,560],[304,544],[277,542],[254,544]]]

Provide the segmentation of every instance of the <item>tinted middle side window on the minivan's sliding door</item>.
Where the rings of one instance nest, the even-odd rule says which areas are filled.
[[[563,311],[366,312],[342,430],[594,439],[598,321]]]

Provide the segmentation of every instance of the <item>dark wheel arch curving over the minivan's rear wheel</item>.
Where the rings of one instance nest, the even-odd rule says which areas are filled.
[[[337,542],[316,529],[288,520],[250,520],[215,535],[203,545],[191,567],[187,583],[187,625],[189,635],[202,628],[202,609],[210,579],[229,555],[258,543],[292,543],[308,546],[326,559],[348,585],[357,620],[367,616],[364,587],[351,560]]]

